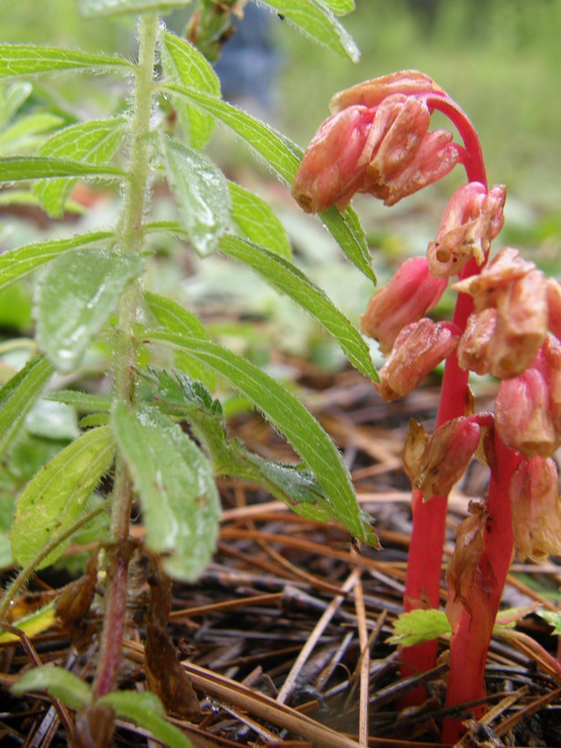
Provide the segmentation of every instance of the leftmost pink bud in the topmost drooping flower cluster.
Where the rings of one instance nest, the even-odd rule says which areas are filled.
[[[349,107],[326,121],[306,149],[292,185],[296,202],[306,213],[322,213],[330,205],[346,207],[362,182],[358,159],[368,140],[375,111]]]

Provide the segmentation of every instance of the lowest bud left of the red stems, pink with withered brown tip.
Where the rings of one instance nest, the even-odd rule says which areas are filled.
[[[411,485],[421,491],[424,501],[452,491],[471,462],[480,437],[481,428],[470,417],[447,421],[432,436],[416,421],[410,422],[401,457]]]

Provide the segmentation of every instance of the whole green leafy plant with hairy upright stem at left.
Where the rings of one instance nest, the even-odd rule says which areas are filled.
[[[221,475],[261,484],[306,517],[336,519],[370,545],[376,546],[377,538],[358,507],[341,455],[296,396],[215,342],[195,313],[151,290],[152,240],[167,235],[187,243],[185,252],[201,258],[220,253],[247,266],[315,317],[365,376],[377,379],[377,372],[358,330],[292,262],[275,213],[260,197],[229,182],[202,151],[220,120],[282,182],[292,182],[302,157],[280,132],[221,98],[218,78],[200,51],[217,54],[217,28],[231,23],[244,4],[221,4],[216,26],[209,15],[214,4],[202,2],[189,29],[200,48],[161,21],[161,14],[188,5],[186,0],[82,0],[79,5],[86,17],[139,14],[136,61],[67,48],[0,45],[3,202],[36,204],[57,218],[68,210],[83,211],[72,200],[77,182],[100,183],[120,196],[116,219],[102,230],[35,241],[0,255],[0,292],[28,275],[36,278],[36,337],[25,343],[25,365],[0,390],[6,500],[19,493],[10,550],[22,567],[5,590],[0,620],[36,570],[57,562],[71,542],[95,536],[98,553],[76,592],[84,615],[93,597],[92,578],[103,572],[104,618],[93,683],[46,668],[28,672],[16,691],[49,691],[67,702],[79,712],[76,730],[95,729],[97,744],[109,741],[116,714],[165,744],[185,745],[182,733],[163,719],[156,696],[144,694],[139,701],[138,693],[116,690],[131,554],[147,554],[172,579],[198,577],[218,534],[215,479]],[[350,0],[265,5],[338,54],[357,57],[338,20],[352,9]],[[84,121],[50,111],[16,116],[32,81],[68,70],[119,81],[126,103]],[[167,119],[171,108],[176,130]],[[176,206],[171,220],[151,214],[151,192],[161,184],[168,185]],[[352,209],[329,208],[321,220],[350,261],[374,281]],[[3,345],[5,351],[24,346]],[[80,388],[92,361],[111,378],[108,395]],[[70,389],[60,388],[60,377]],[[217,380],[260,410],[301,462],[267,461],[232,439],[223,405],[213,394]],[[70,409],[81,416],[79,428],[72,421],[47,454],[26,442],[26,419],[38,407],[64,411],[67,419]],[[36,472],[27,469],[18,476],[14,464],[22,444],[32,449],[34,460],[28,462]],[[130,542],[136,504],[146,526],[140,546]],[[52,618],[50,609],[45,617]]]

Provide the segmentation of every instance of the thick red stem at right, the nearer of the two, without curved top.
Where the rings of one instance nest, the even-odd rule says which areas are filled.
[[[520,462],[520,452],[504,446],[494,432],[495,464],[491,471],[485,525],[485,550],[478,562],[477,589],[473,595],[472,612],[462,611],[460,624],[452,635],[450,675],[446,706],[485,698],[485,662],[493,635],[494,621],[503,596],[504,582],[513,554],[513,518],[509,486]],[[472,601],[471,601],[472,602]],[[485,711],[477,707],[475,718]],[[456,743],[462,734],[461,720],[447,720],[442,727],[444,743]]]

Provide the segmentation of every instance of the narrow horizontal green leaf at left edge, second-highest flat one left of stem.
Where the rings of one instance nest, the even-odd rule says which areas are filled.
[[[0,159],[0,182],[28,182],[58,177],[89,177],[122,180],[126,173],[109,164],[79,163],[41,156],[6,156]]]

